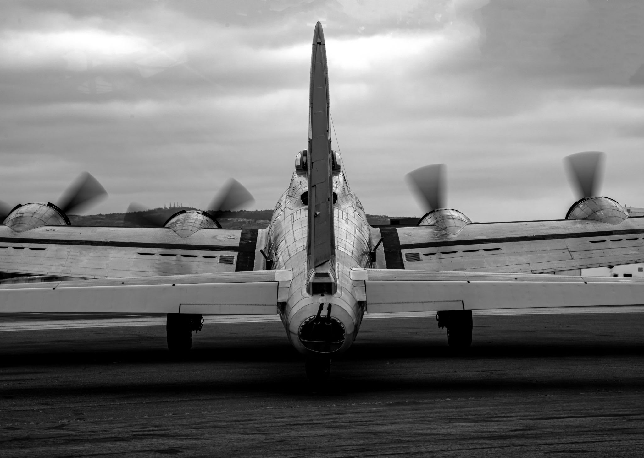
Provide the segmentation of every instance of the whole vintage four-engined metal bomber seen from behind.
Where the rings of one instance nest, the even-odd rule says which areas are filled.
[[[542,275],[644,262],[644,218],[595,196],[592,153],[571,157],[584,196],[565,219],[472,223],[441,208],[429,166],[410,178],[433,210],[417,226],[372,228],[331,149],[320,23],[309,108],[308,148],[269,228],[222,229],[197,211],[156,228],[74,227],[61,208],[73,202],[19,206],[0,226],[0,271],[78,280],[0,286],[0,311],[167,313],[171,350],[191,347],[204,313],[279,314],[319,379],[365,313],[437,311],[448,343],[468,347],[475,309],[644,304],[640,279]]]

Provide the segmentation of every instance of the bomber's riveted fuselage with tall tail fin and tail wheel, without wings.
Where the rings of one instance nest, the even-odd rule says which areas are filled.
[[[346,183],[340,156],[331,149],[327,53],[316,24],[311,55],[308,149],[296,156],[289,189],[267,229],[273,269],[292,269],[279,314],[289,340],[307,355],[307,374],[328,374],[333,354],[354,342],[364,297],[352,288],[351,267],[370,266],[372,246],[365,211]]]

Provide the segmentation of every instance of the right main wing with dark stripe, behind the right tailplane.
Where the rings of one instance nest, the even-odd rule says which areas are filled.
[[[372,230],[379,268],[553,273],[644,262],[644,217],[472,223],[452,235],[435,226]],[[379,234],[378,234],[379,232]]]

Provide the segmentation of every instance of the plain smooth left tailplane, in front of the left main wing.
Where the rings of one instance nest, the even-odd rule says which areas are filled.
[[[0,286],[0,312],[276,315],[291,270]]]

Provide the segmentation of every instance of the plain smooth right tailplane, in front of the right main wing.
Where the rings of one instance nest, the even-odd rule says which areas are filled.
[[[353,268],[367,313],[644,306],[644,279]]]

